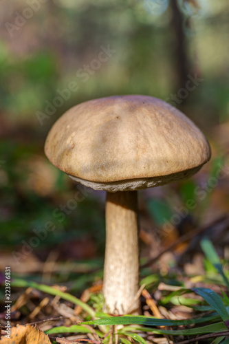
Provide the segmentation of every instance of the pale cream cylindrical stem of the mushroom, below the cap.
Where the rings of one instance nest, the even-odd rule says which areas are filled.
[[[138,194],[107,193],[103,294],[105,311],[139,314]]]

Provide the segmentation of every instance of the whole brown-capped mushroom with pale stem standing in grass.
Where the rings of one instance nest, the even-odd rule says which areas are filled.
[[[45,142],[47,158],[72,179],[107,191],[105,311],[138,314],[137,191],[188,178],[210,159],[201,131],[150,96],[111,96],[69,109]]]

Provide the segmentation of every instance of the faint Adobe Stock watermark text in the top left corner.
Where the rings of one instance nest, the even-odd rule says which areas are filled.
[[[26,3],[28,7],[25,7],[20,13],[18,11],[14,12],[14,23],[7,21],[5,23],[6,29],[10,34],[10,37],[14,36],[14,32],[18,32],[27,23],[28,19],[34,16],[34,13],[41,9],[41,4],[46,3],[48,0],[28,0]]]

